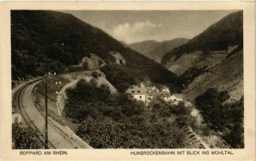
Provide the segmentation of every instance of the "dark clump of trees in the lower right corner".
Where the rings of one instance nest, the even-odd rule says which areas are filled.
[[[243,97],[234,103],[225,103],[230,95],[217,89],[207,91],[195,98],[196,107],[212,129],[220,131],[222,137],[231,147],[244,147],[243,131]]]

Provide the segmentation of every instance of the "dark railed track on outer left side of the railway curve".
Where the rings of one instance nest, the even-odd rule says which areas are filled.
[[[31,83],[37,82],[40,79],[37,79],[35,81],[32,81]],[[15,106],[16,106],[16,111],[20,112],[20,115],[22,116],[24,122],[26,125],[30,125],[32,127],[32,129],[34,129],[35,131],[38,132],[39,135],[37,135],[38,141],[41,141],[42,144],[44,144],[44,134],[42,134],[40,132],[40,130],[38,129],[37,125],[34,124],[34,122],[32,121],[32,119],[28,116],[28,114],[26,113],[26,110],[23,106],[23,101],[21,99],[22,93],[24,92],[24,90],[27,88],[27,86],[30,83],[27,83],[25,85],[23,85],[22,87],[20,87],[20,89],[17,90],[17,92],[15,93]],[[50,149],[56,149],[56,147],[50,142],[48,141],[48,146]]]

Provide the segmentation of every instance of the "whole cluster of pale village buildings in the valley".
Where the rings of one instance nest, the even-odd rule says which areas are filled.
[[[155,86],[146,87],[143,82],[137,86],[133,85],[130,89],[127,89],[126,94],[131,95],[132,98],[143,101],[146,105],[156,96],[160,96],[164,101],[170,102],[173,105],[177,105],[179,102],[183,102],[182,94],[171,94],[168,88],[158,89]]]

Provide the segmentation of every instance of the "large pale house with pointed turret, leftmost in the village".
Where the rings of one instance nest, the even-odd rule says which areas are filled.
[[[130,89],[127,89],[126,94],[131,95],[132,98],[146,102],[146,88],[143,82],[140,84],[140,86],[133,85]]]

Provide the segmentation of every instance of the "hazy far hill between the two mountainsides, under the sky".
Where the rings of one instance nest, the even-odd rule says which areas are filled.
[[[175,38],[168,41],[156,42],[156,41],[143,41],[140,43],[132,43],[129,46],[131,49],[136,50],[139,53],[142,53],[148,58],[160,62],[163,55],[168,51],[171,51],[174,48],[179,47],[183,43],[187,43],[188,38]]]

